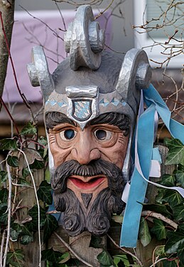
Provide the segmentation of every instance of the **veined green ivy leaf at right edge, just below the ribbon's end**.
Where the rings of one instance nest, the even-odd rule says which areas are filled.
[[[166,165],[169,164],[182,164],[184,165],[184,145],[180,140],[173,139],[168,145],[168,156],[166,158]]]

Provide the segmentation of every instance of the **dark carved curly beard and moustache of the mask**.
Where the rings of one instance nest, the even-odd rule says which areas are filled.
[[[95,176],[104,174],[108,179],[108,188],[97,195],[88,206],[92,194],[82,194],[85,206],[81,205],[74,192],[67,188],[67,177],[71,175]],[[112,213],[120,214],[124,207],[121,194],[124,178],[117,165],[97,159],[89,165],[80,165],[75,160],[61,164],[51,178],[55,209],[64,212],[63,227],[70,236],[77,236],[82,231],[90,231],[101,236],[109,230]]]

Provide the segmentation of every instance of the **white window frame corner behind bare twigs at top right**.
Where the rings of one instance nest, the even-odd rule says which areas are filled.
[[[151,1],[151,0],[148,0]],[[144,12],[146,8],[146,0],[134,0],[134,25],[141,26],[143,24]],[[145,32],[138,33],[137,31]],[[164,43],[166,38],[154,38],[156,41]],[[172,43],[174,43],[172,41]],[[136,48],[144,48],[146,51],[148,58],[152,59],[156,62],[163,62],[166,60],[167,56],[161,54],[163,52],[163,48],[161,46],[153,46],[153,41],[151,38],[147,38],[146,31],[141,30],[141,28],[136,28],[135,36],[134,36],[134,46]],[[153,47],[151,47],[153,46]],[[150,61],[151,66],[158,67],[159,64],[153,63]],[[182,68],[184,64],[184,55],[180,54],[179,56],[175,56],[171,58],[170,63],[168,64],[168,68]],[[166,66],[166,64],[164,65]]]

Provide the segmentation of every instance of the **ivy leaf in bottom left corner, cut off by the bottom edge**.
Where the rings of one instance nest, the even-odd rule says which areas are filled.
[[[25,266],[23,251],[21,249],[16,249],[13,252],[8,252],[6,264],[7,265],[10,264],[11,266],[14,267]]]

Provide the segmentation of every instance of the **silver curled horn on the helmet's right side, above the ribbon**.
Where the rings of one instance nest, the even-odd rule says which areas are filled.
[[[133,48],[124,56],[116,90],[134,110],[136,115],[140,100],[140,90],[151,82],[151,66],[146,52]]]

